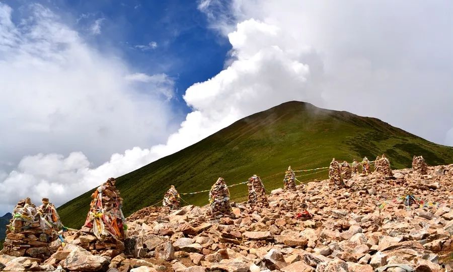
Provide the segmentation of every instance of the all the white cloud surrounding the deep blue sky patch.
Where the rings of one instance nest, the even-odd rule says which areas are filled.
[[[3,12],[0,36],[15,45],[0,43],[1,48],[13,50],[21,44],[25,48],[8,60],[15,65],[23,63],[17,70],[13,65],[7,71],[0,64],[1,70],[10,72],[5,77],[10,84],[7,90],[19,95],[5,105],[0,102],[0,110],[7,107],[10,112],[0,116],[0,124],[5,122],[2,116],[13,116],[18,131],[11,137],[33,134],[33,141],[24,149],[28,154],[41,152],[33,153],[33,146],[47,144],[59,147],[57,154],[69,155],[28,156],[9,174],[0,171],[0,180],[4,180],[0,189],[5,191],[1,203],[10,205],[15,199],[7,194],[29,188],[20,196],[46,195],[60,204],[109,176],[127,173],[244,116],[289,100],[378,117],[428,140],[453,145],[453,18],[446,12],[448,8],[421,1],[349,4],[237,0],[225,5],[216,0],[200,1],[199,9],[206,13],[211,27],[228,37],[233,49],[223,71],[187,89],[184,100],[193,110],[166,142],[163,139],[168,130],[163,127],[168,119],[162,112],[167,112],[164,101],[173,97],[172,79],[124,71],[118,60],[94,53],[77,33],[63,25],[56,27],[56,34],[63,29],[70,35],[53,36],[70,41],[52,40],[39,46],[33,39],[24,42],[23,36],[33,31],[29,34],[18,28],[8,19],[10,13]],[[49,20],[53,19],[40,18],[37,21],[41,23],[35,22],[33,28]],[[27,61],[17,60],[30,45],[50,49],[31,58],[25,55]],[[24,70],[27,67],[33,69]],[[16,86],[24,74],[31,83]],[[41,79],[49,75],[55,76],[44,88]],[[70,88],[63,88],[68,82]],[[41,91],[27,99],[35,86]],[[149,92],[140,90],[147,88],[154,90],[155,96],[143,97]],[[55,91],[62,89],[67,92]],[[46,103],[46,99],[50,101]],[[21,105],[26,106],[19,110],[9,106],[14,101],[25,101]],[[84,133],[74,134],[72,128],[81,125],[86,127]],[[49,131],[58,133],[49,136]],[[111,134],[116,137],[109,138]],[[45,143],[39,140],[44,135]],[[10,139],[10,154],[21,150],[14,145],[27,145],[28,139]],[[105,154],[94,148],[100,141],[104,151],[116,153],[108,162],[93,167],[88,158],[96,161],[98,153]],[[122,153],[132,146],[156,142],[165,144]],[[0,157],[0,161],[7,158]],[[28,186],[15,185],[19,183]]]

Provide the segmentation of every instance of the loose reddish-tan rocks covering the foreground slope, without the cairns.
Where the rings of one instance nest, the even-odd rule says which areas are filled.
[[[47,260],[0,255],[5,271],[449,271],[453,269],[453,164],[426,175],[355,175],[273,190],[269,208],[232,203],[235,218],[206,207],[148,207],[128,218],[124,252],[83,249],[66,233]],[[244,188],[246,190],[246,188]],[[405,203],[407,195],[410,203]],[[412,202],[412,203],[411,203]],[[407,205],[409,204],[409,205]],[[126,203],[127,205],[127,203]],[[307,207],[313,218],[297,218]],[[450,210],[451,209],[451,210]]]

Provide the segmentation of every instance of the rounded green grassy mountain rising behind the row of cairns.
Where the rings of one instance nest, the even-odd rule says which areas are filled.
[[[321,109],[291,101],[245,117],[204,140],[117,178],[130,215],[163,198],[170,185],[180,193],[209,189],[218,177],[227,184],[246,181],[253,174],[268,191],[282,186],[284,171],[328,166],[337,160],[374,160],[385,153],[393,168],[411,167],[413,155],[428,164],[453,163],[453,148],[428,142],[376,118]],[[300,181],[327,178],[327,172],[304,173]],[[105,180],[100,180],[102,184]],[[58,208],[67,227],[81,227],[94,189]],[[246,185],[230,188],[233,200],[247,197]],[[208,193],[181,195],[191,204],[208,203]]]

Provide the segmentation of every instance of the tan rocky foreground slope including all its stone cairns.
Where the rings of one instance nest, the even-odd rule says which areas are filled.
[[[352,167],[333,159],[330,184],[296,186],[289,167],[284,189],[267,195],[253,175],[244,203],[230,202],[220,177],[209,205],[181,208],[172,185],[164,208],[137,211],[126,225],[110,178],[92,194],[81,230],[65,230],[47,198],[38,208],[29,198],[19,201],[0,270],[443,272],[436,252],[453,250],[452,179],[453,165],[428,168],[421,156],[413,171],[392,171],[383,155],[374,173],[366,157]]]

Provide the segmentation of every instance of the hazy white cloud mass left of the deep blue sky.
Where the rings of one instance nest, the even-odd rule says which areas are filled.
[[[124,150],[162,143],[174,126],[171,78],[136,73],[109,48],[91,48],[40,5],[21,12],[26,19],[13,20],[0,4],[0,207],[7,211],[23,196],[61,204],[146,164],[145,151]]]

